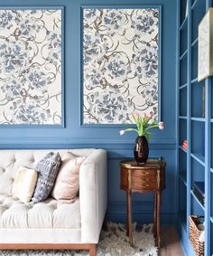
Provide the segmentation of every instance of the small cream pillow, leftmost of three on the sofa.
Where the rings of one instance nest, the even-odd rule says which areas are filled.
[[[34,169],[20,167],[14,177],[13,195],[23,203],[29,203],[37,182],[38,173]]]

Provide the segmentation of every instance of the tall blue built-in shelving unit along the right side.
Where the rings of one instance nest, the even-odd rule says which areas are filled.
[[[211,78],[198,81],[198,26],[211,6],[211,0],[180,0],[177,8],[178,218],[181,242],[190,256],[190,215],[205,217],[205,256],[213,255],[213,85]],[[181,147],[185,139],[187,150]],[[194,181],[205,183],[205,205],[193,193]]]

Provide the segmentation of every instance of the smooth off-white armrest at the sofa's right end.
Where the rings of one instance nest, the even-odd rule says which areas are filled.
[[[97,243],[107,204],[106,150],[95,149],[79,170],[81,242]]]

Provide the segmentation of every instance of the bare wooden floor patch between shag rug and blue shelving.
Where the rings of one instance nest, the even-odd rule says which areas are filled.
[[[159,256],[184,256],[178,234],[174,227],[162,227],[161,243]]]

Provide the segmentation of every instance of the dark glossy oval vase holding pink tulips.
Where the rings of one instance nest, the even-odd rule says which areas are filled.
[[[138,136],[134,142],[134,159],[138,165],[144,165],[149,156],[149,144],[145,136]]]

